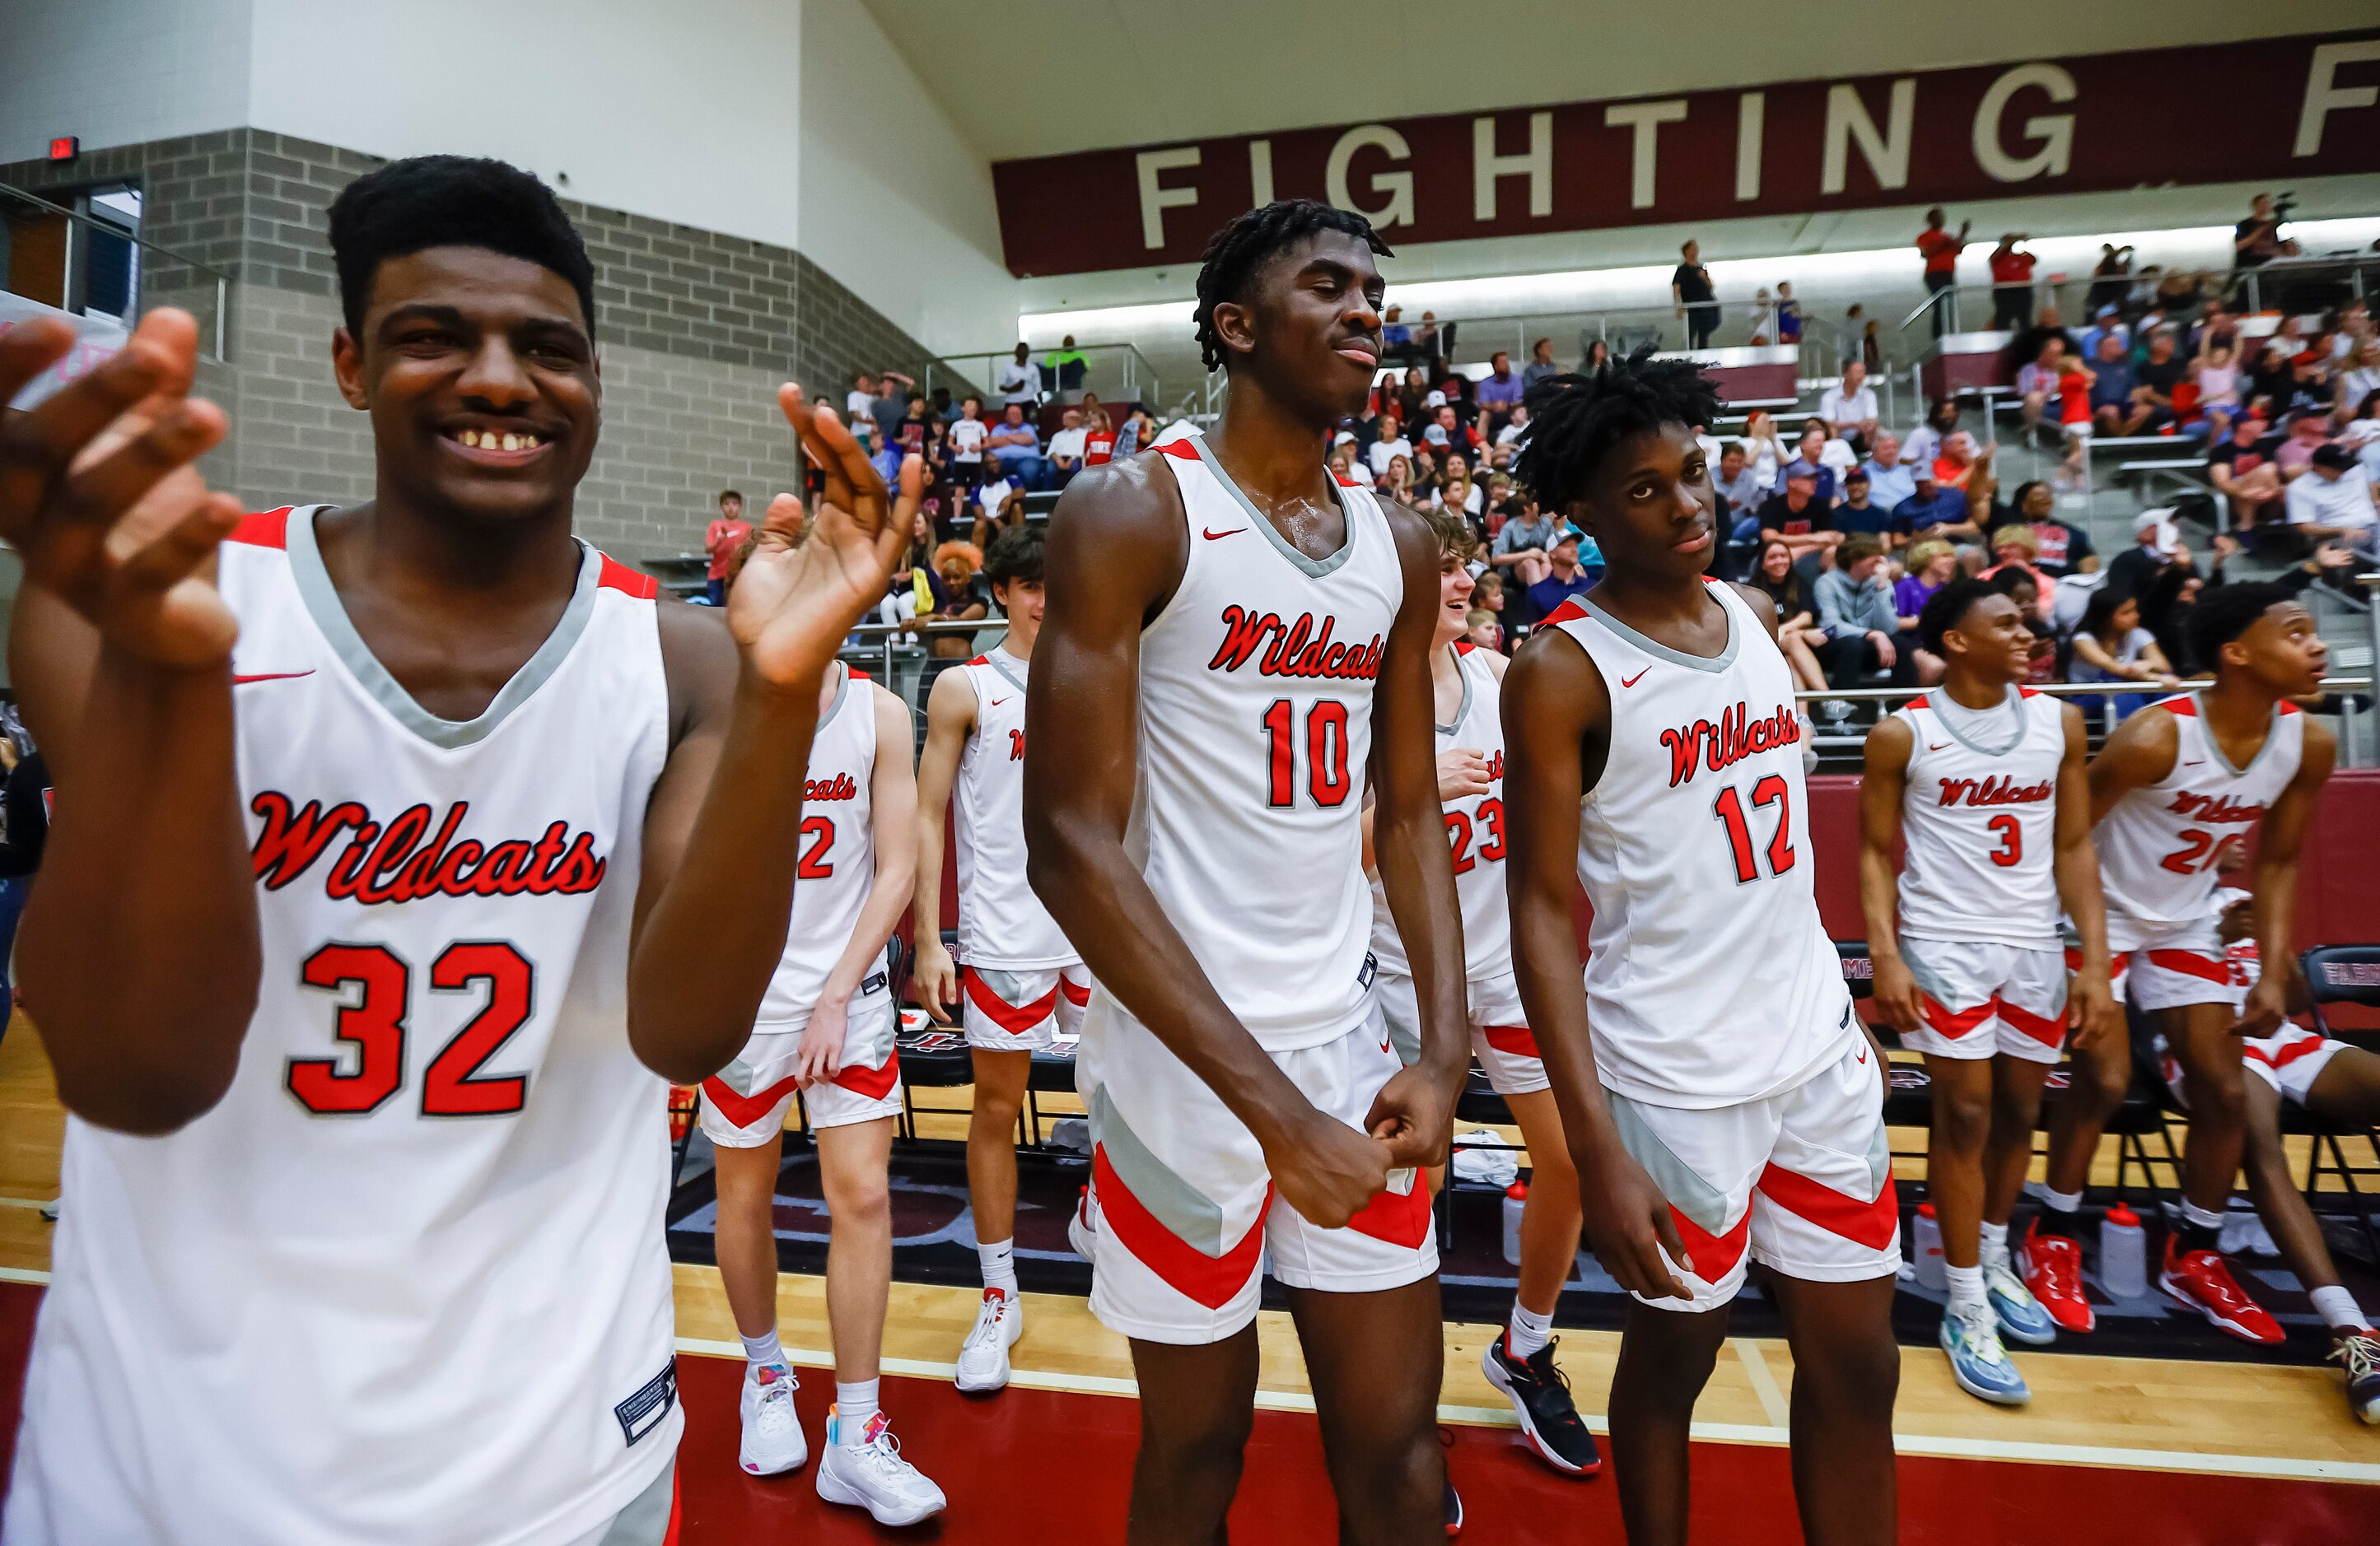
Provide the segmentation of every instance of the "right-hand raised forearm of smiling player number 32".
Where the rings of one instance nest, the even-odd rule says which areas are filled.
[[[778,690],[740,668],[712,787],[628,954],[628,1044],[678,1085],[743,1049],[785,954],[816,725],[816,685]]]

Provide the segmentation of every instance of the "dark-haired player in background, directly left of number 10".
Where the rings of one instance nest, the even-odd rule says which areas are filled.
[[[916,1001],[962,1023],[976,1066],[966,1118],[966,1196],[976,1215],[983,1306],[959,1346],[959,1389],[1009,1382],[1026,1330],[1016,1299],[1016,1113],[1033,1054],[1073,1037],[1090,1004],[1083,959],[1026,882],[1026,673],[1042,621],[1042,530],[1000,533],[983,573],[1009,616],[1000,647],[935,678],[916,768]],[[942,949],[942,811],[959,794],[959,970]]]

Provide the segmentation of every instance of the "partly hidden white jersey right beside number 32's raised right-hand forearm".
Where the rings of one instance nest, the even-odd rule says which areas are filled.
[[[809,735],[802,787],[802,859],[793,871],[793,923],[754,1030],[809,1023],[828,973],[859,930],[876,890],[876,685],[840,666],[835,702]]]

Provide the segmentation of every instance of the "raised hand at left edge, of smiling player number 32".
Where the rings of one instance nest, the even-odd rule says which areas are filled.
[[[71,347],[55,321],[0,333],[0,404]],[[0,540],[26,580],[169,668],[221,664],[240,633],[205,573],[240,504],[193,466],[228,428],[188,397],[195,369],[198,323],[159,309],[100,369],[29,414],[0,414]]]

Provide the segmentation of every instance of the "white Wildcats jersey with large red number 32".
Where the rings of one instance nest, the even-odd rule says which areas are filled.
[[[545,645],[443,721],[317,509],[221,549],[257,1011],[183,1130],[67,1120],[12,1546],[574,1541],[678,1444],[669,1087],[626,1027],[654,583],[581,549]]]

